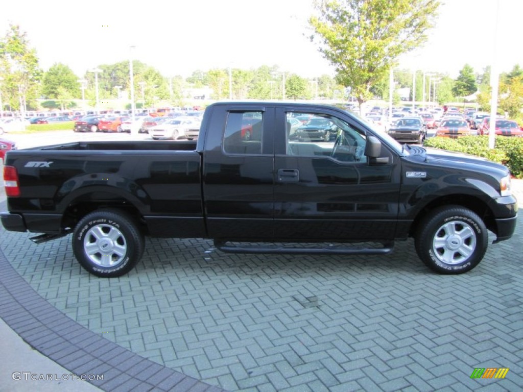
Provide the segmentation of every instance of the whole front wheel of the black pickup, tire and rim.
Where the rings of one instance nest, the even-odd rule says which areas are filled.
[[[485,223],[471,210],[446,205],[435,209],[419,225],[416,252],[425,265],[442,274],[472,270],[488,245]]]

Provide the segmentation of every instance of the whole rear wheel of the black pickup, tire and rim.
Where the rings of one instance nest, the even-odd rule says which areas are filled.
[[[87,214],[73,233],[76,260],[89,273],[115,278],[128,273],[143,254],[144,238],[134,220],[119,210]]]

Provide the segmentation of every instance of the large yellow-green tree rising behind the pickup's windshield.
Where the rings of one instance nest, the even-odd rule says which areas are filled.
[[[434,26],[437,0],[321,0],[319,15],[309,19],[321,38],[320,52],[335,66],[336,80],[351,87],[361,104],[370,88],[394,65],[402,53],[424,41]]]

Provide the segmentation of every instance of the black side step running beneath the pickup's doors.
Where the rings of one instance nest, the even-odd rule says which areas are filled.
[[[365,248],[353,246],[333,246],[327,244],[323,247],[287,247],[285,245],[252,245],[238,246],[227,245],[229,241],[214,240],[214,246],[222,252],[228,253],[266,253],[272,255],[386,255],[394,250],[394,243],[383,243],[382,248]]]

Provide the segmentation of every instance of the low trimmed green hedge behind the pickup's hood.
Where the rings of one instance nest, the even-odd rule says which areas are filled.
[[[523,178],[523,138],[496,136],[494,149],[488,148],[488,136],[463,136],[458,139],[431,137],[425,146],[471,154],[501,163],[516,178]]]

